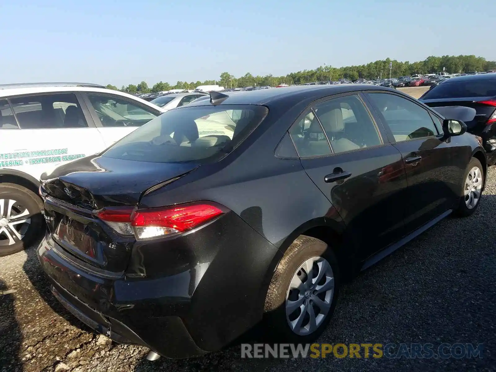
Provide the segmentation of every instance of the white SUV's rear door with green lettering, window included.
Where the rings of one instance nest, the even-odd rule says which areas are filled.
[[[8,116],[8,128],[1,126],[3,157],[14,160],[9,160],[7,167],[12,165],[36,179],[65,162],[105,148],[74,92],[10,97],[2,107],[3,112],[13,114]]]

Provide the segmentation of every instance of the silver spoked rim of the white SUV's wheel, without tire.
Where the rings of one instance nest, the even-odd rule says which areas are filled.
[[[21,241],[30,224],[27,208],[16,200],[0,199],[0,246],[11,246]]]

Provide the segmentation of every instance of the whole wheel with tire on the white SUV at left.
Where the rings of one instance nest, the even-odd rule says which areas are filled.
[[[0,185],[0,256],[29,248],[45,232],[41,199],[26,187]]]

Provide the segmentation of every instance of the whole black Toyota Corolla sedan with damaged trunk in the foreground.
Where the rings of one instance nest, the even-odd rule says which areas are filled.
[[[62,305],[149,359],[261,320],[307,343],[341,279],[478,207],[480,138],[448,119],[372,85],[211,93],[42,176],[41,265]]]

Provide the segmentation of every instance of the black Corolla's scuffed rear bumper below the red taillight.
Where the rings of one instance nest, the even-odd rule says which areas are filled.
[[[174,359],[222,349],[260,321],[281,255],[232,212],[200,231],[136,243],[122,275],[95,272],[50,233],[37,253],[55,296],[81,321]]]

